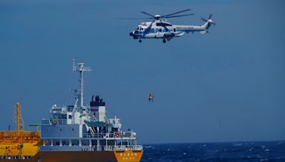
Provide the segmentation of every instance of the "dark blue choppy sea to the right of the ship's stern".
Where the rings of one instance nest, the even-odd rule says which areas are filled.
[[[145,144],[141,161],[285,162],[285,141]]]

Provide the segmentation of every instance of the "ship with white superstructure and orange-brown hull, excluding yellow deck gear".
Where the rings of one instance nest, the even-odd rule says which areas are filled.
[[[105,102],[99,95],[83,99],[83,75],[92,71],[84,63],[75,64],[80,75],[75,102],[67,106],[53,104],[50,117],[41,119],[38,151],[31,156],[11,156],[17,161],[140,161],[142,145],[135,131],[122,129],[118,117],[108,118]],[[78,103],[79,102],[79,103]],[[24,158],[23,158],[24,157]],[[7,156],[4,156],[7,160]]]

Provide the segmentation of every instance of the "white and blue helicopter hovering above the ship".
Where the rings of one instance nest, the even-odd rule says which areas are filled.
[[[144,13],[147,16],[147,18],[115,18],[115,19],[153,19],[153,21],[150,22],[142,22],[138,27],[135,29],[135,31],[130,32],[130,36],[134,39],[138,39],[139,42],[142,42],[142,39],[146,38],[155,38],[155,39],[162,39],[163,43],[166,43],[167,41],[170,41],[172,38],[175,37],[181,37],[185,33],[194,33],[199,32],[201,34],[208,33],[208,29],[210,26],[216,25],[214,21],[212,21],[212,13],[209,15],[208,19],[201,18],[202,21],[205,23],[202,26],[185,26],[185,25],[173,25],[170,22],[167,21],[166,18],[177,18],[182,16],[192,16],[193,13],[189,14],[180,14],[178,13],[190,11],[191,9],[185,9],[182,11],[177,11],[175,13],[170,13],[167,15],[152,15],[150,13],[147,13],[145,11],[141,11],[141,13]],[[162,18],[165,18],[162,21]]]

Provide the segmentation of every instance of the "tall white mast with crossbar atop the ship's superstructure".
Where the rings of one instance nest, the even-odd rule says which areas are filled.
[[[90,72],[91,68],[84,67],[84,63],[78,63],[78,68],[76,68],[75,59],[73,59],[73,71],[80,72],[80,105],[83,107],[83,72]]]

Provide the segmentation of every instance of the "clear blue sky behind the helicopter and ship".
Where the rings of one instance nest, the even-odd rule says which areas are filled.
[[[0,2],[0,129],[15,128],[20,102],[26,127],[49,117],[53,104],[74,104],[85,75],[85,102],[100,95],[138,142],[285,140],[284,1]],[[192,9],[173,24],[217,26],[170,42],[128,33],[145,17]],[[147,95],[155,95],[148,102]]]

